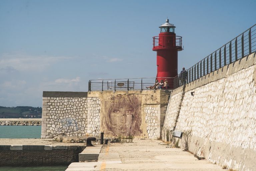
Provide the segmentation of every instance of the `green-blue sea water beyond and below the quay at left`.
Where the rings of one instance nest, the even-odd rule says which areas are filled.
[[[0,126],[0,138],[40,138],[41,126]],[[65,171],[67,166],[1,167],[0,171]]]

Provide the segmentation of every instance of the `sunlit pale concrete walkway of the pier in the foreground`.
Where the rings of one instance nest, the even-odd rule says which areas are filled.
[[[225,171],[208,160],[198,160],[181,148],[162,141],[134,139],[132,143],[104,145],[97,162],[71,163],[66,171]]]

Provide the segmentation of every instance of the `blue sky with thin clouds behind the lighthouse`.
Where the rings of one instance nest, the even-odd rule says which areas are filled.
[[[41,106],[43,91],[156,76],[152,37],[168,16],[178,70],[255,24],[256,1],[0,0],[0,106]]]

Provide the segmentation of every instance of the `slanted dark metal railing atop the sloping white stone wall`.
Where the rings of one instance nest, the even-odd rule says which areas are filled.
[[[256,24],[186,70],[186,81],[181,82],[179,74],[174,78],[174,83],[176,86],[190,83],[255,51]]]

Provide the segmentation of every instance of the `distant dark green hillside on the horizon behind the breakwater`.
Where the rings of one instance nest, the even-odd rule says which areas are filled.
[[[31,106],[0,106],[0,118],[42,118],[42,108]]]

